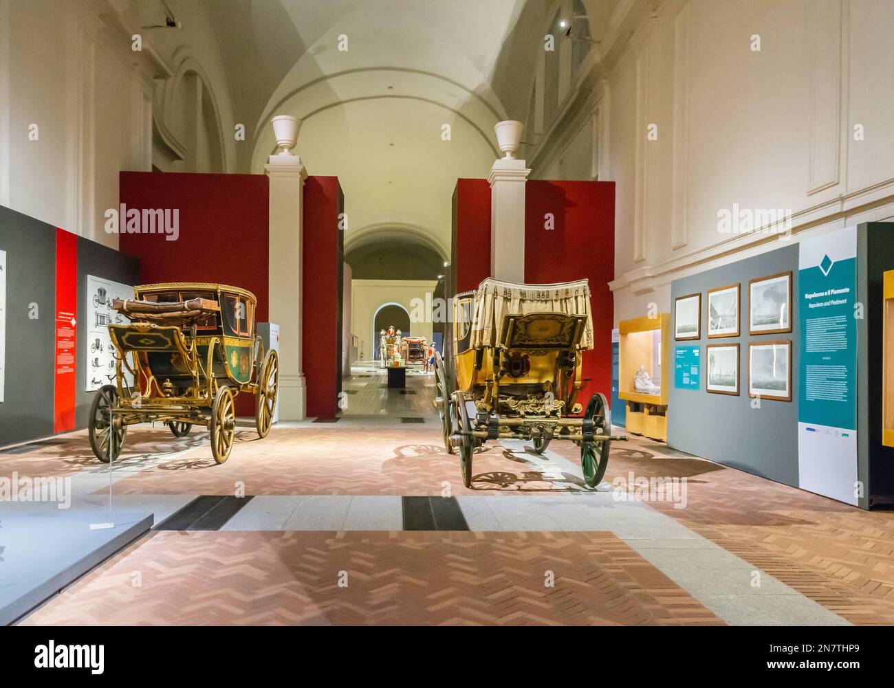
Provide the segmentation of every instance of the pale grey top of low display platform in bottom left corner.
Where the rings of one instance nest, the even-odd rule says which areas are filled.
[[[152,527],[154,516],[107,506],[0,502],[0,625],[73,583]]]

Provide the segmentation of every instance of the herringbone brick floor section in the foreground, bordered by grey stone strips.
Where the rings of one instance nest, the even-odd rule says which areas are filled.
[[[217,531],[153,533],[25,624],[722,622],[611,533]]]

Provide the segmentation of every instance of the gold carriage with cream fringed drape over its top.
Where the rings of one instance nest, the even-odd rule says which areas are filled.
[[[612,440],[607,399],[577,402],[583,351],[593,348],[586,280],[511,284],[485,280],[453,300],[448,371],[435,354],[444,446],[460,452],[462,479],[471,487],[475,449],[486,440],[533,442],[541,454],[553,439],[580,446],[584,479],[603,479]],[[450,360],[451,359],[451,360]],[[582,416],[578,416],[584,411]]]

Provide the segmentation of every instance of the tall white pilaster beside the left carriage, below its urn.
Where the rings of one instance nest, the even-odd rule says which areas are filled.
[[[304,180],[298,155],[271,155],[264,167],[270,178],[270,322],[280,326],[279,416],[303,420],[307,389],[301,365],[301,260]]]

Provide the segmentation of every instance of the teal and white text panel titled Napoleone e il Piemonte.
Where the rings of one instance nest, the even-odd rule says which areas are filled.
[[[799,487],[856,504],[856,227],[801,242],[797,298]]]

